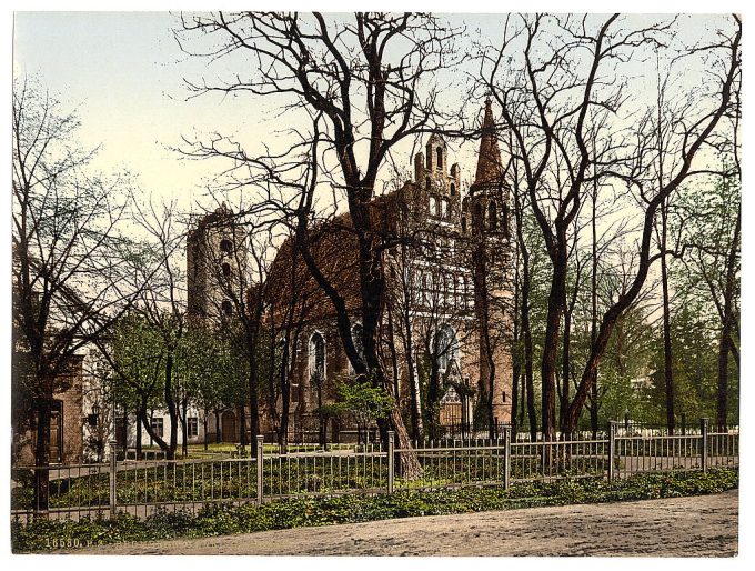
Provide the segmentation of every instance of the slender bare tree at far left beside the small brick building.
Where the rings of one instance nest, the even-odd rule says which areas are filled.
[[[128,192],[123,179],[91,173],[94,151],[76,141],[79,122],[29,81],[12,104],[14,394],[27,394],[37,432],[34,505],[48,509],[50,415],[76,379],[79,353],[130,307],[140,287],[113,260]],[[147,270],[149,271],[149,270]]]

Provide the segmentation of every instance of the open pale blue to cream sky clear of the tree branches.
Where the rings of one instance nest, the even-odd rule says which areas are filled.
[[[480,29],[490,38],[499,36],[503,18],[453,17],[464,20],[470,37]],[[699,38],[715,19],[687,18],[684,33],[688,40]],[[218,131],[238,137],[253,153],[285,123],[275,118],[279,102],[272,99],[210,96],[187,101],[182,79],[212,78],[217,68],[181,52],[171,33],[175,26],[177,17],[167,12],[17,12],[13,67],[17,76],[38,74],[67,106],[78,107],[83,144],[102,143],[99,168],[127,168],[145,192],[178,198],[187,208],[220,166],[181,160],[170,149],[181,144],[181,136]],[[450,108],[465,97],[449,91]],[[411,149],[405,150],[405,158],[396,153],[396,159],[409,169]],[[474,146],[455,156],[452,150],[463,177],[474,172],[473,153]]]

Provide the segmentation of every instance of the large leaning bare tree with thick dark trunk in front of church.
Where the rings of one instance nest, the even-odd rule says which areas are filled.
[[[305,192],[300,202],[301,223],[295,230],[298,246],[333,304],[352,367],[390,390],[379,359],[378,334],[385,297],[381,262],[384,241],[375,228],[371,202],[379,171],[391,149],[433,128],[435,91],[426,84],[454,56],[453,41],[460,31],[432,16],[411,13],[355,13],[330,20],[320,13],[217,13],[183,18],[182,24],[184,32],[217,41],[205,54],[246,54],[252,63],[250,78],[235,74],[223,86],[193,86],[199,92],[273,97],[286,103],[291,112],[304,111],[301,117],[311,118],[313,130],[305,133],[304,140],[320,139],[320,146],[314,144],[308,157],[312,190],[324,174],[335,176],[333,183],[345,194],[356,240],[363,355],[351,339],[352,323],[343,299],[308,252],[306,230],[313,202],[304,198]],[[290,150],[294,151],[299,152],[299,147]],[[332,160],[335,169],[322,168],[318,164],[321,160]],[[275,169],[270,161],[268,167]],[[409,449],[409,434],[397,408],[390,419],[401,448]],[[381,427],[383,435],[386,428]],[[405,460],[411,462],[404,465],[406,473],[419,471],[415,460]]]

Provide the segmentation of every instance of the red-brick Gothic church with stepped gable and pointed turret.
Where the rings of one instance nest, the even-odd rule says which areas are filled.
[[[485,432],[490,422],[509,422],[511,414],[509,192],[490,101],[481,133],[476,173],[466,192],[445,140],[431,134],[425,152],[414,157],[413,180],[371,203],[374,227],[392,240],[382,254],[386,295],[380,358],[407,428],[434,414],[433,424],[442,429],[434,437]],[[346,304],[359,351],[358,250],[350,226],[348,213],[315,226],[310,246]],[[205,237],[199,240],[201,233],[199,228],[189,241],[189,305],[192,313],[208,314],[213,304],[210,286],[200,279],[207,273],[198,248],[207,243]],[[233,231],[218,240],[212,240],[218,248],[235,251],[223,242],[233,241]],[[336,399],[339,382],[353,379],[335,311],[292,238],[279,249],[263,291],[265,327],[276,340],[276,354],[285,354],[289,363],[281,375],[290,395],[289,440],[316,440],[318,410]],[[214,307],[222,310],[222,303],[215,300]],[[262,411],[262,430],[271,435],[282,400],[281,394],[274,411]],[[326,422],[329,440],[353,438],[353,423]]]

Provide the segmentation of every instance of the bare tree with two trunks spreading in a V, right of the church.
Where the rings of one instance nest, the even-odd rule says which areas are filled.
[[[686,49],[672,60],[678,62],[685,56],[707,58],[708,66],[719,74],[706,84],[713,89],[688,98],[687,120],[675,126],[673,151],[667,149],[682,160],[677,168],[664,172],[662,183],[648,168],[648,157],[656,152],[652,144],[653,109],[640,112],[632,128],[615,117],[618,113],[632,117],[628,113],[637,102],[630,99],[628,74],[623,73],[622,66],[648,48],[665,49],[673,21],[630,29],[618,14],[598,23],[590,17],[537,14],[523,17],[517,23],[511,19],[499,50],[484,56],[484,86],[501,106],[503,124],[512,133],[514,156],[522,163],[530,206],[551,259],[541,363],[542,430],[548,440],[554,438],[556,425],[556,355],[570,266],[568,228],[595,179],[623,181],[642,197],[643,227],[632,270],[634,280],[601,319],[564,417],[566,432],[576,427],[616,319],[640,294],[650,266],[657,258],[651,256],[650,249],[660,204],[687,178],[699,172],[696,156],[719,134],[716,128],[733,103],[741,58],[741,23],[736,17],[734,21],[733,31],[719,32],[721,41]]]

